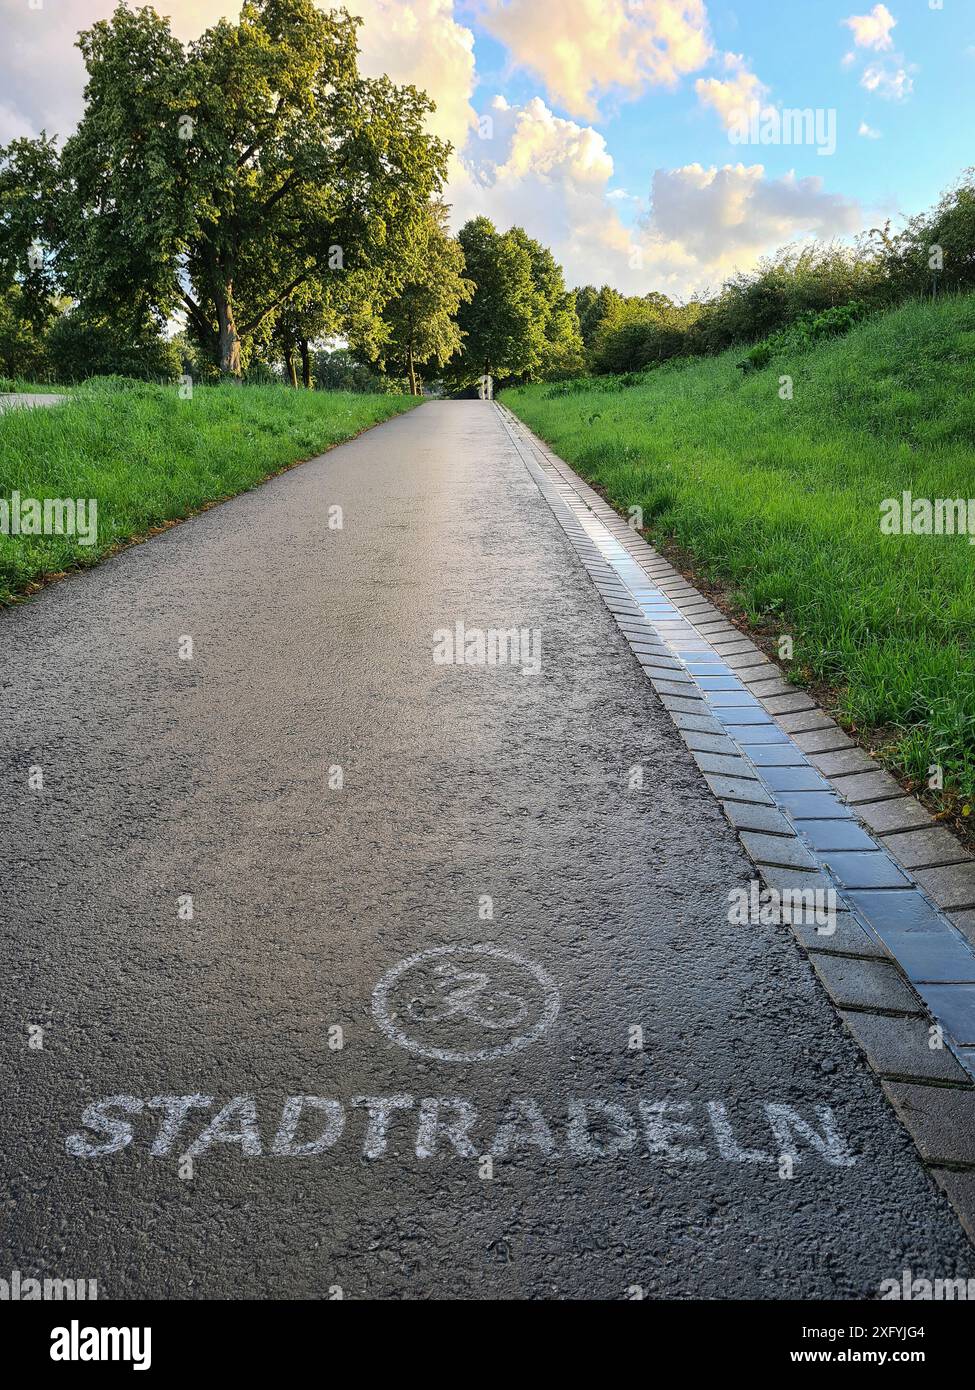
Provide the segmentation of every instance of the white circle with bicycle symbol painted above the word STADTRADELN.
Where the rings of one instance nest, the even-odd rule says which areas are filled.
[[[561,998],[533,960],[490,944],[433,947],[401,960],[373,991],[385,1036],[438,1062],[488,1062],[527,1047]]]

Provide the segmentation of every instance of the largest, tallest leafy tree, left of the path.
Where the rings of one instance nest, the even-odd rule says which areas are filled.
[[[90,309],[182,309],[239,377],[242,342],[302,286],[398,274],[445,170],[412,86],[362,78],[357,19],[246,0],[184,49],[120,4],[82,32],[85,114],[60,164],[58,270]]]

